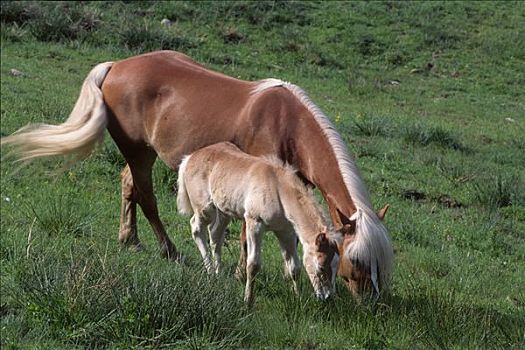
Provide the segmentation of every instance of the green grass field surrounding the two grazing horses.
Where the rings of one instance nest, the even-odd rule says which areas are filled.
[[[160,24],[163,18],[172,26]],[[522,349],[525,347],[523,2],[2,2],[1,134],[60,123],[89,70],[179,50],[241,79],[305,89],[347,142],[395,248],[390,295],[298,296],[264,241],[254,308],[226,271],[207,276],[155,166],[161,217],[190,259],[117,243],[109,136],[72,167],[21,167],[2,148],[2,349]],[[16,69],[20,74],[13,74]]]

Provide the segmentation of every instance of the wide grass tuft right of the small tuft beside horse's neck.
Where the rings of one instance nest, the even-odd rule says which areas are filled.
[[[413,125],[405,128],[402,131],[402,135],[404,140],[411,144],[422,146],[435,144],[453,150],[466,150],[466,147],[458,140],[457,136],[441,127]]]

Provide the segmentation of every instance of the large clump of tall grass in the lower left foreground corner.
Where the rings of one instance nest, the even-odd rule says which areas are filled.
[[[235,282],[157,264],[146,271],[106,257],[41,254],[18,270],[9,297],[33,327],[68,344],[160,348],[205,339],[238,347],[248,316]]]

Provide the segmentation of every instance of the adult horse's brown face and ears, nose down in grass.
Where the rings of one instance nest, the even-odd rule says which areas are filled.
[[[388,204],[381,209],[377,216],[383,220],[388,210]],[[338,248],[342,257],[339,261],[337,274],[342,277],[346,287],[356,299],[364,295],[370,295],[374,298],[379,296],[381,290],[380,273],[377,262],[365,264],[357,259],[351,260],[345,256],[355,238],[355,226],[352,224],[345,225],[340,232],[343,235]]]

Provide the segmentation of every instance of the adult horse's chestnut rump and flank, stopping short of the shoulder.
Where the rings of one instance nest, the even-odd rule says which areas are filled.
[[[159,51],[116,62],[102,86],[121,149],[152,147],[176,168],[182,155],[235,138],[254,83],[211,71],[188,56]]]

